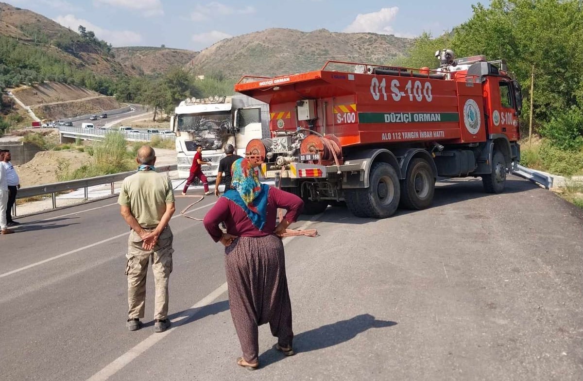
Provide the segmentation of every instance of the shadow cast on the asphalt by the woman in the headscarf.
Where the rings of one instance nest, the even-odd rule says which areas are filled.
[[[349,320],[336,321],[336,323],[297,334],[293,339],[293,348],[298,353],[317,351],[349,341],[370,328],[392,327],[396,324],[395,321],[377,320],[368,313],[361,314]],[[259,363],[263,368],[283,358],[285,355],[272,348],[259,356]]]

